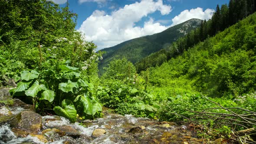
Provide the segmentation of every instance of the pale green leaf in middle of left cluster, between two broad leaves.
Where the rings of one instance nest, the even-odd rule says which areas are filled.
[[[42,90],[46,90],[45,85],[39,85],[39,82],[36,80],[36,82],[34,82],[33,85],[25,91],[25,94],[34,98],[37,93]]]

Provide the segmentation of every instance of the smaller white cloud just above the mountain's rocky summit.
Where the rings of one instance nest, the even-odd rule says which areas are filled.
[[[200,7],[197,7],[196,9],[191,9],[191,10],[184,10],[178,16],[175,16],[172,19],[173,23],[171,26],[175,26],[177,24],[183,23],[192,18],[197,18],[200,20],[209,20],[213,16],[213,13],[214,13],[213,9],[206,9],[205,11],[203,11],[203,9]]]

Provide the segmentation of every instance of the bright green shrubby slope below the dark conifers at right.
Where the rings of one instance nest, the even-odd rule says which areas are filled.
[[[256,14],[150,70],[161,96],[199,91],[212,96],[256,90]]]

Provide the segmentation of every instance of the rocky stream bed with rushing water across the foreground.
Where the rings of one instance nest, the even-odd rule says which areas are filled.
[[[103,117],[70,123],[59,116],[41,116],[32,105],[15,99],[11,107],[0,103],[0,144],[221,144],[206,141],[186,125],[104,108]]]

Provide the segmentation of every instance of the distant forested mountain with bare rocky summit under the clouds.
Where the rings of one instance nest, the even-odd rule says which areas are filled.
[[[126,57],[132,63],[138,62],[151,53],[167,48],[178,38],[185,36],[191,30],[200,26],[201,20],[191,19],[184,23],[170,27],[161,33],[150,36],[142,36],[120,43],[110,48],[102,49],[103,60],[99,63],[98,69],[103,73],[103,67],[106,67],[114,58]]]

